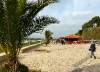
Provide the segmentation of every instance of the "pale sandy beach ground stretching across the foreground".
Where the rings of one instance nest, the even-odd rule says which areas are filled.
[[[21,63],[41,72],[100,72],[100,45],[96,45],[96,59],[90,58],[90,44],[50,44],[40,50],[19,55]]]

